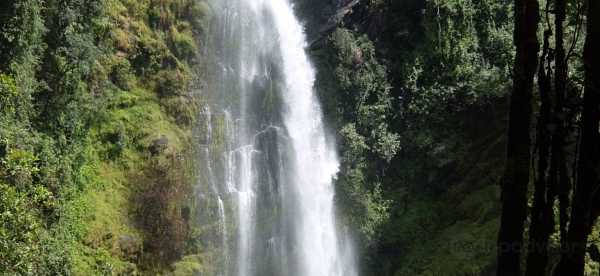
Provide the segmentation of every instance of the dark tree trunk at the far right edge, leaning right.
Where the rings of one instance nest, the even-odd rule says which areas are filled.
[[[583,276],[588,235],[598,215],[600,185],[600,1],[588,0],[587,37],[584,49],[585,91],[581,126],[578,177],[571,208],[567,250],[556,275]]]

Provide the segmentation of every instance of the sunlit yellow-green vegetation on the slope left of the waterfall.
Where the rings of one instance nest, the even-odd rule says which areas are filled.
[[[209,13],[190,0],[0,4],[0,274],[203,269],[182,258],[200,249],[187,91]]]

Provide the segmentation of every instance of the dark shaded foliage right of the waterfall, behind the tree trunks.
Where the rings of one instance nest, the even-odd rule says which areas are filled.
[[[567,44],[581,52],[581,7],[567,2]],[[364,273],[493,273],[512,2],[305,0],[299,10],[340,130],[337,200],[357,229]],[[569,63],[570,93],[579,93],[580,61]]]

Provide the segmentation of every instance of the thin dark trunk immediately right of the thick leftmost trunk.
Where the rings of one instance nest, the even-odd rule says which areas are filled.
[[[548,224],[552,222],[552,215],[548,213],[548,207],[552,206],[553,189],[548,187],[548,157],[550,154],[550,137],[548,131],[552,111],[550,109],[552,100],[550,98],[551,80],[549,70],[546,71],[546,62],[550,48],[550,30],[544,31],[544,46],[540,57],[540,68],[538,69],[538,86],[540,92],[540,114],[537,123],[536,144],[538,151],[537,178],[533,196],[533,208],[531,210],[531,225],[529,227],[529,247],[527,250],[527,268],[525,275],[544,275],[548,264],[548,237],[550,231]],[[548,66],[550,67],[550,66]],[[552,208],[550,208],[552,210]]]

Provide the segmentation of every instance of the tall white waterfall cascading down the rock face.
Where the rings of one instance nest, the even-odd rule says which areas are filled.
[[[339,163],[291,4],[214,0],[211,6],[215,60],[207,98],[218,112],[205,109],[214,124],[206,131],[222,141],[206,156],[214,164],[207,165],[208,186],[223,231],[220,275],[357,275],[349,239],[335,220]]]

